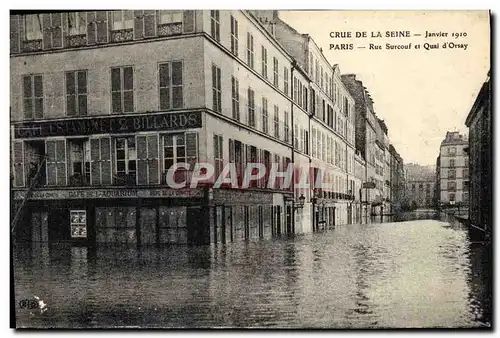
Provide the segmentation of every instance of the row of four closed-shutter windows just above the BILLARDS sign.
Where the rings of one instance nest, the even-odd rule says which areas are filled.
[[[183,108],[182,62],[158,65],[159,109]],[[111,68],[111,112],[132,113],[134,106],[134,69],[131,66]],[[67,116],[88,114],[87,70],[65,73],[65,109]],[[23,76],[23,111],[25,119],[44,118],[43,75]]]

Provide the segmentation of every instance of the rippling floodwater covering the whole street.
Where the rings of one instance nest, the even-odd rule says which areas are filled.
[[[16,245],[16,325],[489,327],[486,246],[418,218],[220,246]]]

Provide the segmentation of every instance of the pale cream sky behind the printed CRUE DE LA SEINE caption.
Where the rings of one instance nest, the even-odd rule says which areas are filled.
[[[467,132],[465,119],[490,69],[489,17],[486,11],[280,11],[280,18],[309,34],[330,64],[354,73],[385,120],[392,144],[405,163],[433,165],[447,131]],[[331,32],[366,31],[367,38],[332,38]],[[372,38],[377,32],[383,38]],[[409,38],[386,38],[386,31],[409,31]],[[426,31],[448,33],[425,38]],[[466,36],[452,37],[452,33]],[[415,36],[414,34],[421,34]],[[388,50],[386,43],[410,50]],[[439,44],[425,50],[424,43]],[[467,48],[443,49],[443,43]],[[352,50],[329,49],[353,43]],[[369,49],[369,44],[381,50]],[[414,49],[420,44],[421,49]],[[364,49],[358,47],[366,47]]]

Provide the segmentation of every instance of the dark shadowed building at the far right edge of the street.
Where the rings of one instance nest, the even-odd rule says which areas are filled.
[[[465,120],[469,127],[469,219],[475,226],[490,229],[492,221],[493,125],[491,122],[490,74]]]

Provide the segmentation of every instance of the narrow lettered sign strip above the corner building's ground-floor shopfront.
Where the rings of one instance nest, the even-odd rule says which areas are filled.
[[[25,191],[15,191],[14,199],[20,200]],[[100,198],[160,198],[194,197],[202,198],[201,189],[71,189],[71,190],[36,190],[31,193],[32,200],[100,199]]]

